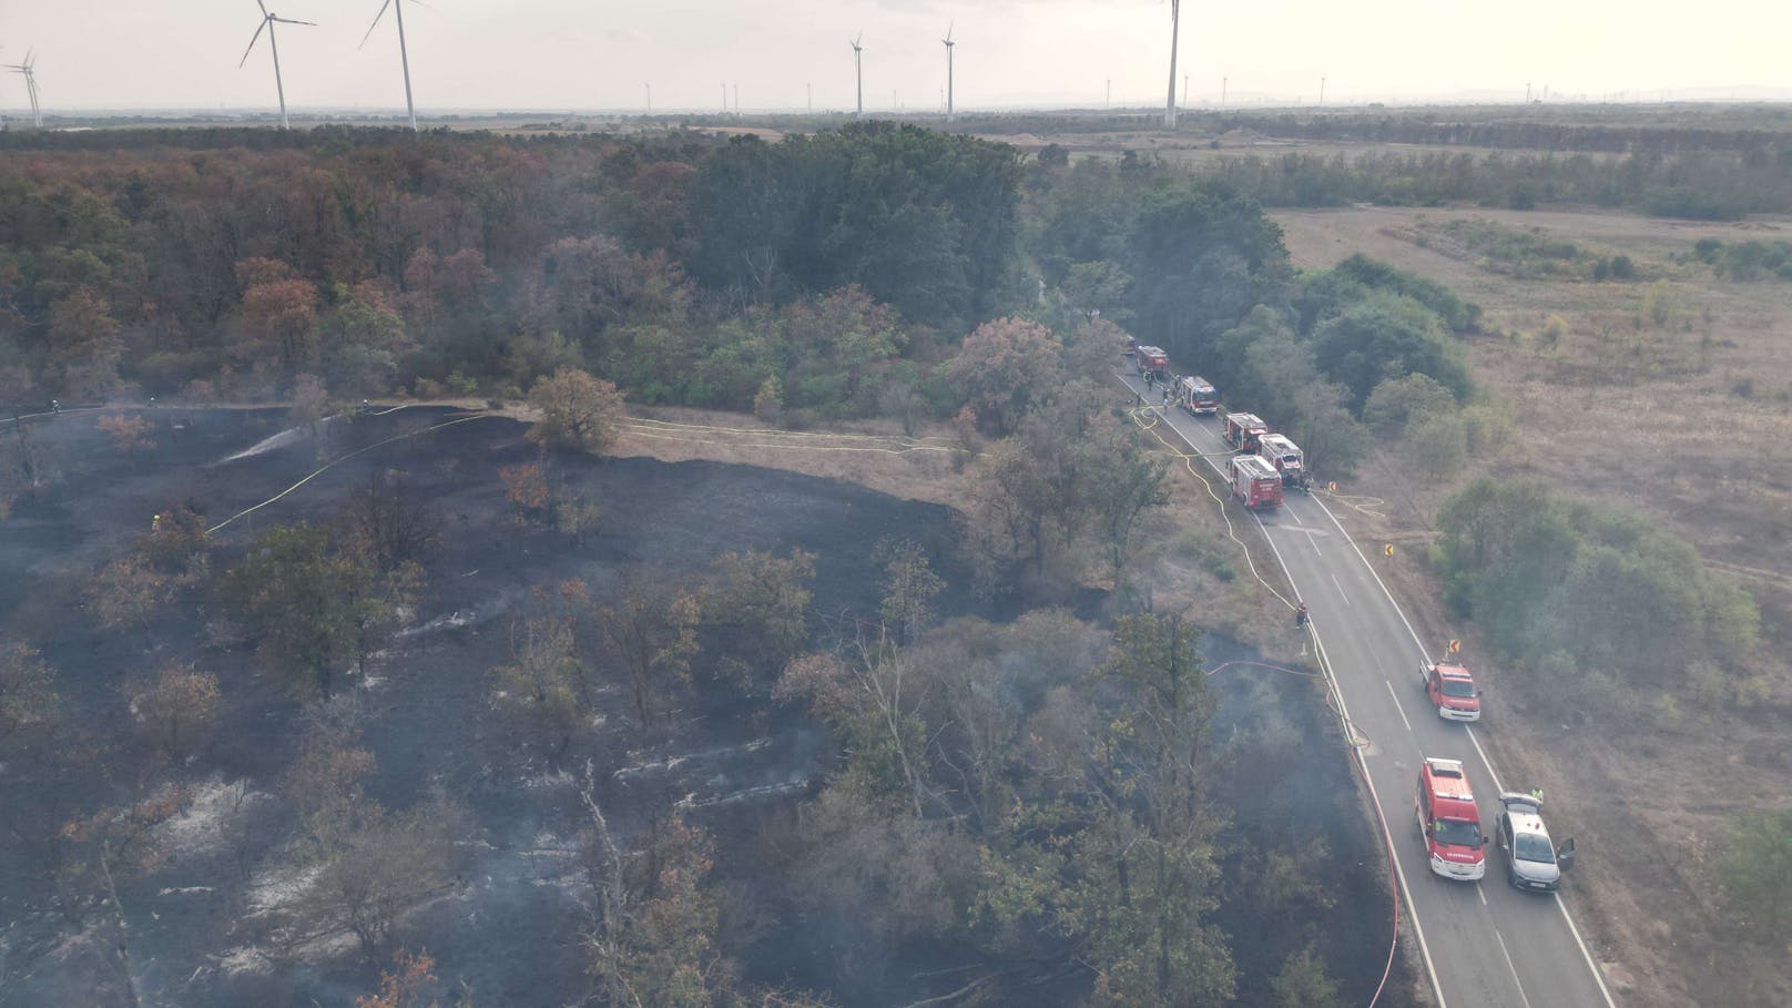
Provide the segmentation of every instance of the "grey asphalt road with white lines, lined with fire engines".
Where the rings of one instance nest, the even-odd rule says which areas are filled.
[[[1120,380],[1145,393],[1140,378],[1122,375]],[[1152,404],[1159,396],[1161,387],[1147,395]],[[1202,454],[1228,448],[1219,416],[1193,418],[1174,405],[1161,416],[1176,434],[1161,427],[1159,432],[1172,443],[1179,436]],[[1208,461],[1219,472],[1224,459]],[[1224,495],[1224,477],[1213,479],[1213,488]],[[1235,509],[1235,524],[1238,513]],[[1319,495],[1290,491],[1281,508],[1262,513],[1254,524],[1308,604],[1321,658],[1337,682],[1346,716],[1358,737],[1367,739],[1360,752],[1371,791],[1387,816],[1410,913],[1403,924],[1417,938],[1421,965],[1439,1004],[1611,1008],[1615,1001],[1559,895],[1521,893],[1505,884],[1503,859],[1493,847],[1487,848],[1487,877],[1480,882],[1453,882],[1430,870],[1414,814],[1423,757],[1464,760],[1487,836],[1498,793],[1530,789],[1529,782],[1502,777],[1475,737],[1477,732],[1498,732],[1498,696],[1486,698],[1480,728],[1437,717],[1419,687],[1419,662],[1428,651],[1373,567],[1371,558],[1382,560],[1382,543],[1358,549]],[[1238,531],[1249,542],[1245,527]],[[1288,626],[1292,631],[1292,613]],[[1441,653],[1443,642],[1432,642],[1432,649]],[[1573,875],[1566,886],[1573,888]]]

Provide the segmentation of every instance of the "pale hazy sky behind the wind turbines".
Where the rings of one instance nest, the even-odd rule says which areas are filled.
[[[405,0],[419,109],[851,108],[864,32],[866,108],[932,109],[955,23],[961,108],[1161,102],[1167,0]],[[401,108],[398,30],[380,0],[269,0],[292,108]],[[0,0],[0,63],[38,50],[47,109],[272,108],[263,38],[238,70],[254,0]],[[1256,0],[1183,4],[1190,104],[1330,102],[1459,93],[1659,97],[1781,88],[1792,97],[1788,0]],[[25,104],[0,75],[0,108]]]

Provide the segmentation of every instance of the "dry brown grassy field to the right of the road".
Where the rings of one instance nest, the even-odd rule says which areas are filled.
[[[1573,886],[1595,931],[1625,949],[1634,1004],[1767,1004],[1792,992],[1783,956],[1749,945],[1719,913],[1711,856],[1736,812],[1792,795],[1792,287],[1717,280],[1693,242],[1783,239],[1792,221],[1688,224],[1607,212],[1353,208],[1276,212],[1301,267],[1351,253],[1450,285],[1486,308],[1468,339],[1475,380],[1511,418],[1486,468],[1534,475],[1581,497],[1627,504],[1699,549],[1713,574],[1762,604],[1763,642],[1742,680],[1688,694],[1581,696],[1475,656],[1496,714],[1486,739],[1543,784],[1557,830],[1577,832]],[[1572,242],[1634,262],[1633,282],[1514,276],[1450,233]],[[1444,619],[1423,549],[1437,502],[1466,479],[1425,486],[1387,452],[1360,493],[1385,518],[1351,511],[1369,534],[1414,549],[1391,565],[1428,639]],[[1473,646],[1473,642],[1471,642]],[[1600,703],[1611,700],[1611,703]]]

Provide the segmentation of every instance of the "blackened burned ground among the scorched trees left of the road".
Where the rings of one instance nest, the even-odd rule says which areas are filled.
[[[806,712],[722,687],[706,678],[701,660],[697,689],[659,728],[625,725],[624,692],[606,683],[593,728],[561,759],[520,750],[495,725],[487,692],[489,669],[507,660],[530,588],[579,578],[600,595],[631,565],[690,578],[724,551],[801,547],[815,554],[810,624],[826,639],[874,619],[882,588],[873,554],[880,540],[907,538],[926,549],[948,583],[943,613],[1007,619],[1018,610],[1014,599],[969,592],[946,508],[844,482],[704,461],[556,456],[554,479],[581,486],[602,506],[599,531],[573,543],[509,524],[496,470],[538,459],[514,420],[478,416],[439,427],[470,414],[412,407],[289,432],[283,411],[158,409],[145,416],[154,448],[142,450],[120,450],[97,430],[93,414],[30,423],[29,438],[54,459],[56,479],[0,524],[0,569],[9,572],[0,579],[0,628],[43,651],[57,669],[59,692],[97,737],[129,735],[120,683],[170,662],[217,673],[226,723],[240,728],[220,734],[181,769],[194,800],[161,827],[172,857],[122,893],[134,983],[147,1003],[342,1004],[373,990],[378,972],[351,943],[278,961],[258,947],[265,938],[260,911],[303,886],[283,866],[292,811],[281,791],[306,705],[280,689],[253,653],[219,646],[208,628],[219,619],[219,599],[197,588],[159,610],[143,633],[104,633],[86,612],[93,570],[147,531],[152,515],[186,504],[208,524],[228,520],[213,534],[213,563],[226,565],[274,524],[330,520],[378,472],[401,470],[439,511],[444,534],[428,563],[426,592],[371,674],[344,689],[367,707],[375,798],[401,809],[441,787],[470,811],[455,884],[412,908],[398,942],[426,947],[437,972],[464,983],[480,1004],[559,1004],[584,990],[588,918],[577,900],[575,848],[577,784],[586,766],[620,834],[681,807],[715,838],[717,877],[744,888],[753,886],[756,838],[767,823],[790,814],[837,766],[833,743]],[[389,441],[403,434],[414,436]],[[244,513],[319,470],[321,457],[357,450]],[[1098,606],[1091,595],[1079,615],[1095,619]],[[1210,664],[1245,656],[1220,639],[1210,639],[1204,651]],[[1315,936],[1346,999],[1366,1001],[1387,954],[1387,881],[1322,700],[1310,680],[1253,665],[1228,667],[1213,683],[1222,698],[1219,737],[1231,739],[1224,778],[1215,782],[1217,796],[1233,804],[1228,875],[1244,875],[1258,836],[1324,834],[1330,847],[1324,865],[1310,866],[1331,895],[1322,913],[1267,915],[1256,911],[1253,893],[1228,890],[1220,917],[1245,978],[1238,999],[1260,1003],[1267,976]],[[5,773],[30,780],[30,768]],[[0,1004],[108,1003],[115,992],[93,979],[91,940],[70,936],[39,866],[0,845],[0,870],[7,879]],[[790,908],[760,913],[765,933],[737,952],[745,970],[767,983],[826,988],[833,976],[826,936],[790,917]],[[966,954],[903,949],[878,990],[835,994],[855,1004],[943,994],[955,986],[946,972]],[[1396,963],[1392,1003],[1403,1003],[1409,986],[1410,976]],[[1086,978],[1061,981],[1041,988],[1039,1003],[1082,994]]]

